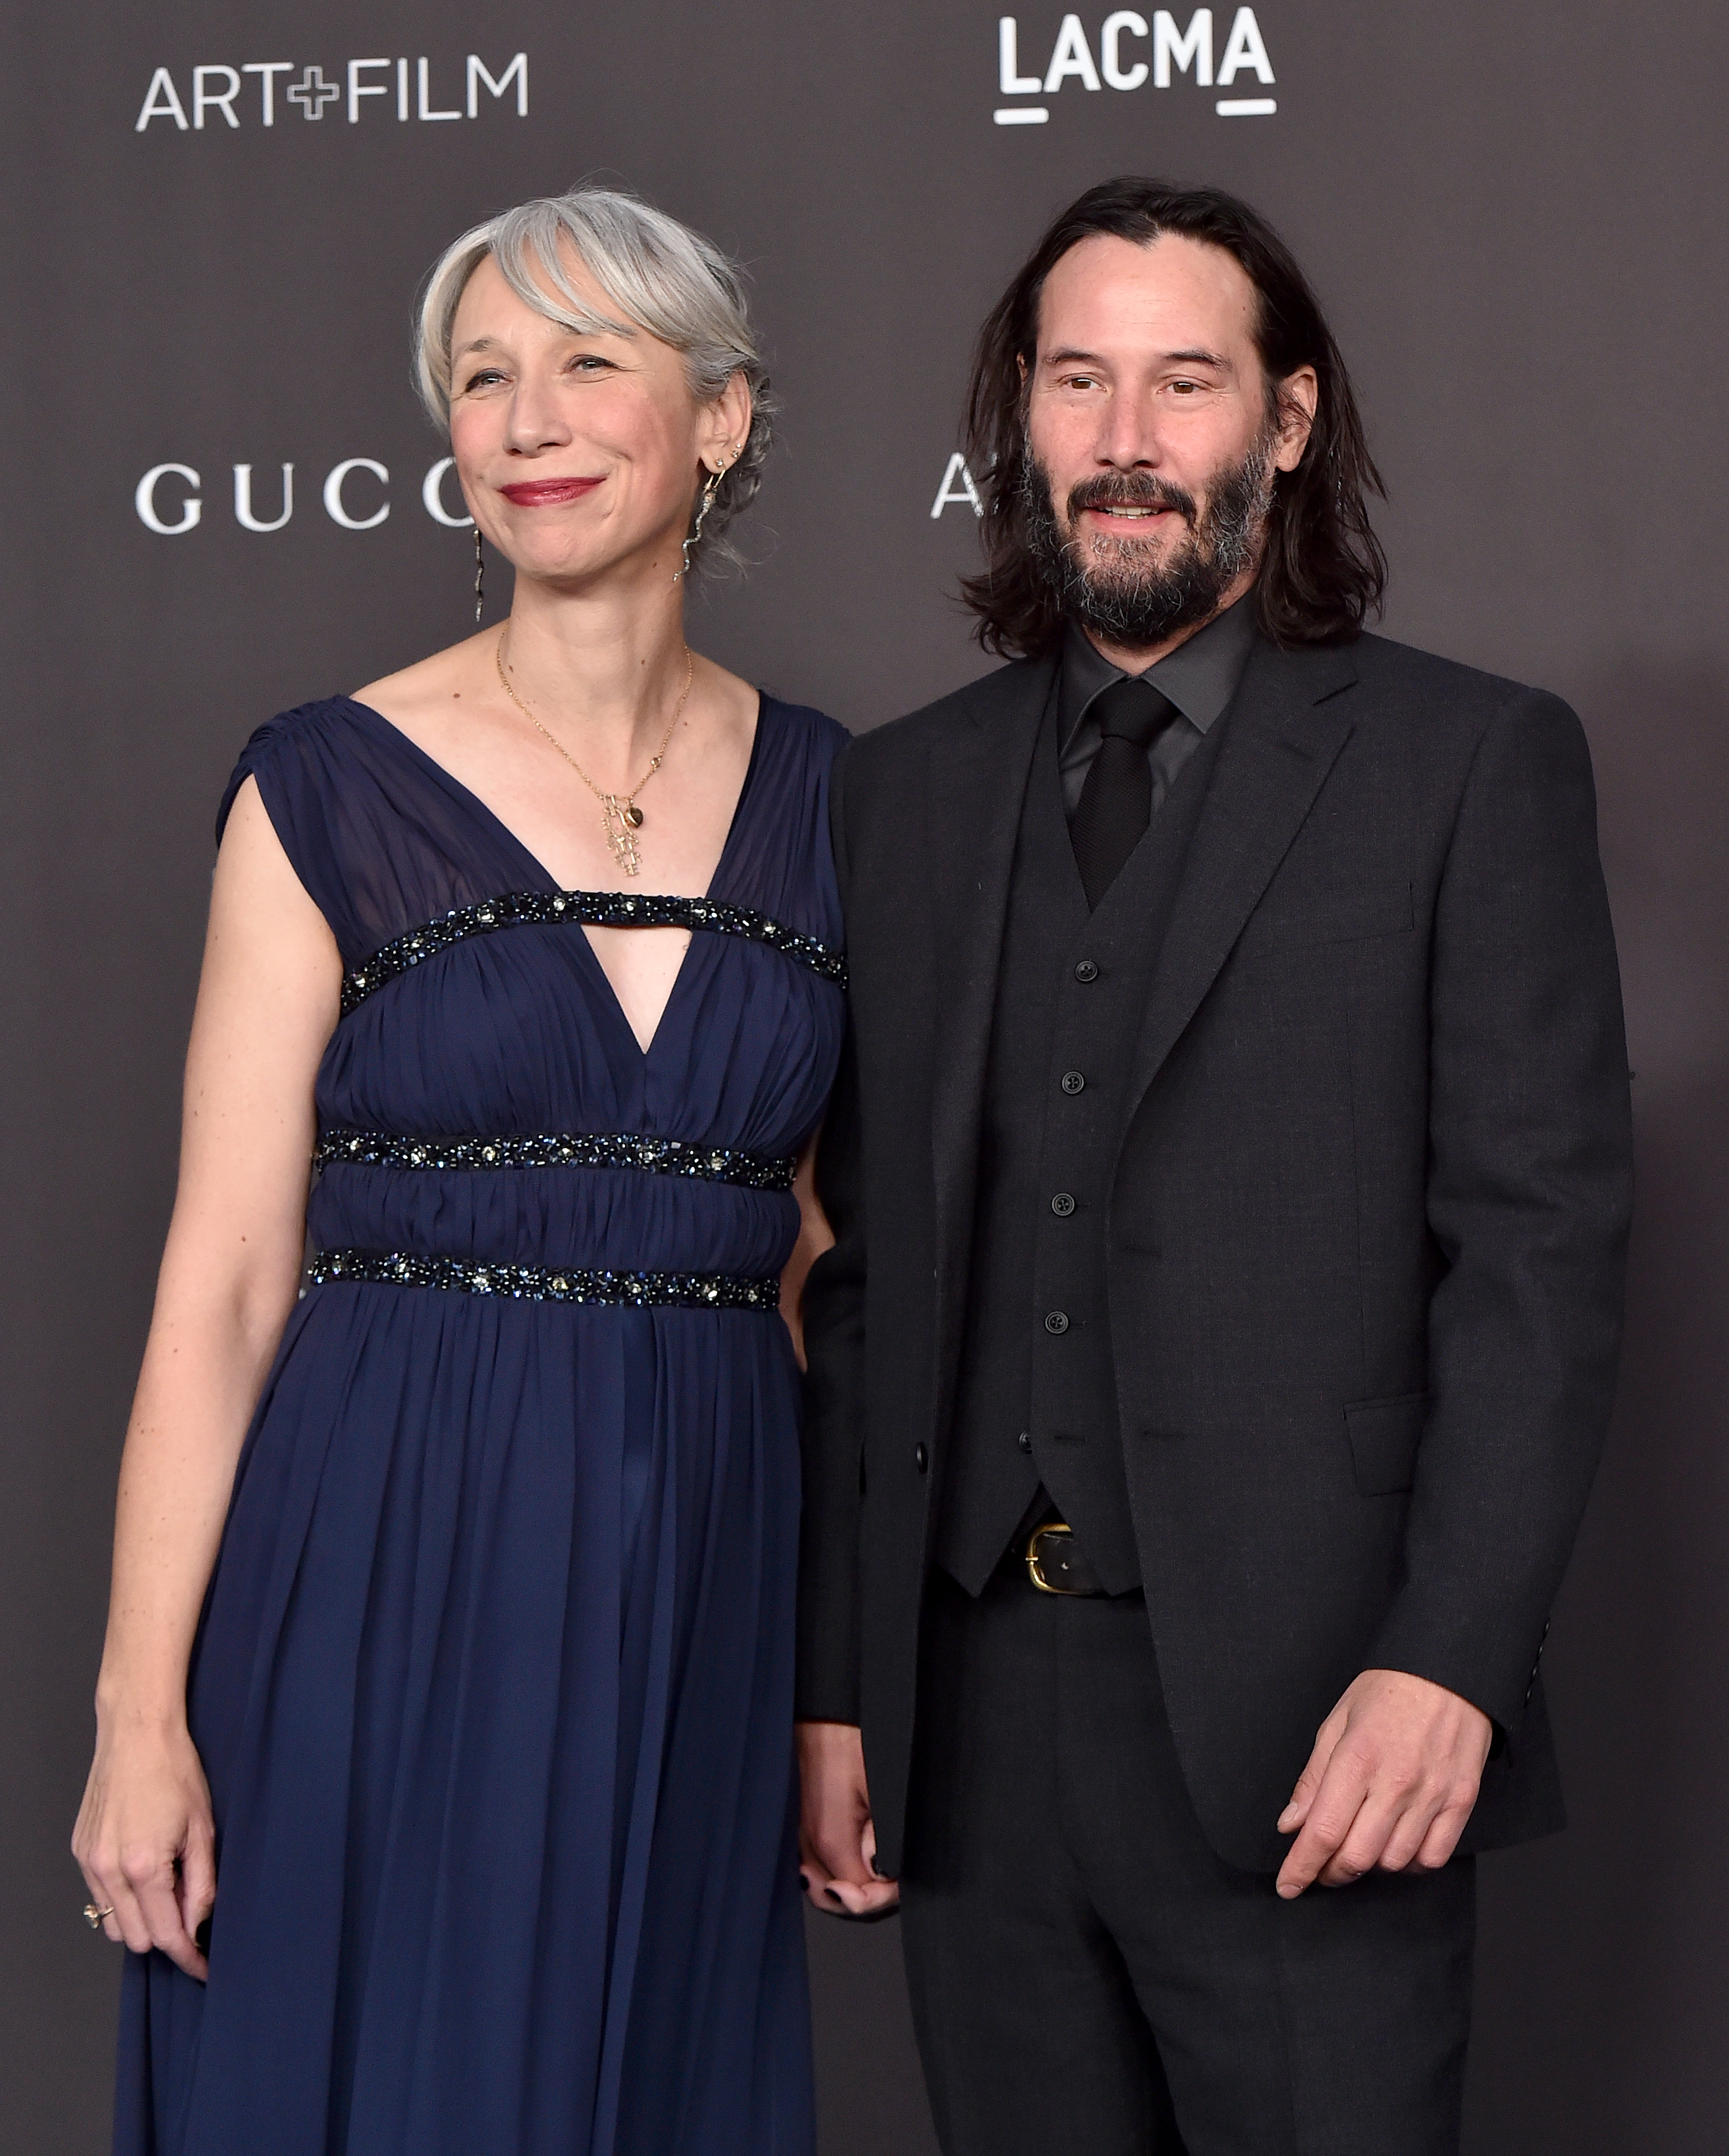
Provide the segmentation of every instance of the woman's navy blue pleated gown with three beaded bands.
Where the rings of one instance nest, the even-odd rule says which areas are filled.
[[[192,1662],[209,1986],[127,1955],[121,2156],[811,2156],[774,1276],[843,740],[763,699],[707,901],[561,893],[349,699],[248,744],[347,977]],[[647,1052],[584,921],[692,927]]]

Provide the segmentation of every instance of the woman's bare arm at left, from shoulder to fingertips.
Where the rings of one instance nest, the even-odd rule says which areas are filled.
[[[235,1460],[300,1287],[313,1082],[341,972],[248,780],[216,862],[175,1216],[121,1457],[97,1753],[73,1833],[97,1904],[112,1904],[108,1936],[198,1977],[216,1867],[185,1673]]]

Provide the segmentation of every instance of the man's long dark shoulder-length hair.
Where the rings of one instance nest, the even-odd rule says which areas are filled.
[[[1005,658],[1050,651],[1063,619],[1026,537],[1026,390],[1039,341],[1039,293],[1056,263],[1093,233],[1149,241],[1162,233],[1205,239],[1233,254],[1255,291],[1255,347],[1272,386],[1313,367],[1315,425],[1302,464],[1281,472],[1255,586],[1259,619],[1278,645],[1328,645],[1356,636],[1380,608],[1386,556],[1369,524],[1367,494],[1384,494],[1345,360],[1309,278],[1278,233],[1220,188],[1166,179],[1108,179],[1071,203],[1033,248],[985,317],[966,397],[966,461],[985,502],[985,567],[962,580],[979,617],[974,636]]]

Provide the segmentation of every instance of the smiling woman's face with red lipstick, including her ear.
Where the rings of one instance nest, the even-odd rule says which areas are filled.
[[[576,257],[571,287],[617,317]],[[714,405],[690,392],[670,345],[584,336],[535,313],[487,257],[451,334],[451,453],[479,528],[524,576],[593,584],[630,571],[668,582],[703,464],[731,464],[750,403],[739,377]]]

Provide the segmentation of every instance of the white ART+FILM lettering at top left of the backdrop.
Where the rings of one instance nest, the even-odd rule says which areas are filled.
[[[295,69],[302,69],[300,82],[289,80]],[[492,112],[515,110],[515,116],[526,121],[528,54],[511,54],[498,73],[479,52],[466,54],[461,67],[448,60],[433,63],[429,54],[416,60],[407,56],[345,60],[330,78],[317,60],[244,60],[239,67],[229,60],[200,60],[183,69],[179,80],[172,67],[157,67],[132,127],[134,134],[151,134],[157,123],[172,134],[203,134],[207,127],[274,127],[278,119],[289,116],[289,106],[308,121],[321,121],[326,110],[336,106],[332,119],[347,119],[351,127],[362,119],[386,116],[403,125],[476,121],[483,97],[489,99]]]

